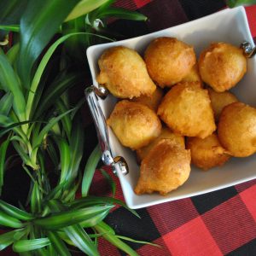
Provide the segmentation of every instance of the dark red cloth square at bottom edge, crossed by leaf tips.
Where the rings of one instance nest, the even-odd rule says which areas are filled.
[[[170,255],[172,255],[169,251],[169,248],[166,247],[166,243],[163,240],[163,238],[160,237],[159,239],[156,239],[155,241],[152,241],[152,242],[160,245],[160,247],[154,247],[152,245],[146,244],[143,247],[140,247],[137,250],[137,253],[140,256],[148,256],[148,255],[170,256]]]

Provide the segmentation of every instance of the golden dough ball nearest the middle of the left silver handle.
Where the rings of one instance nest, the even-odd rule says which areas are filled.
[[[115,105],[107,123],[120,143],[131,149],[148,145],[161,132],[160,119],[153,110],[126,100]]]

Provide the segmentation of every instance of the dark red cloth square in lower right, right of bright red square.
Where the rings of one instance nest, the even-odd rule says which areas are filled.
[[[256,224],[239,195],[204,213],[201,218],[224,254],[256,237]]]

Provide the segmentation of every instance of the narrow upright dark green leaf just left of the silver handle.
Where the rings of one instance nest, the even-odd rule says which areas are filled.
[[[72,137],[70,141],[71,163],[69,177],[76,178],[80,162],[84,154],[84,131],[79,114],[73,119]]]

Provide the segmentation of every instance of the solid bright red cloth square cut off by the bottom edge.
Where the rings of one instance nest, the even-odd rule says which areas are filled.
[[[163,236],[166,246],[175,256],[223,255],[201,217],[194,218]]]

